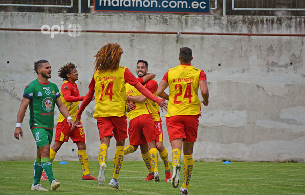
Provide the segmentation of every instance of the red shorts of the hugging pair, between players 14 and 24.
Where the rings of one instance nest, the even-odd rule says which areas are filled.
[[[154,141],[157,136],[155,123],[150,114],[140,115],[129,122],[130,145],[143,145]]]

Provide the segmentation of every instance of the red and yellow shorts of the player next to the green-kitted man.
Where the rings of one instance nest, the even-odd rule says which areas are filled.
[[[81,122],[78,123],[73,131],[71,131],[71,126],[69,126],[67,119],[57,123],[55,142],[68,142],[69,137],[72,139],[73,143],[85,142],[85,132]]]

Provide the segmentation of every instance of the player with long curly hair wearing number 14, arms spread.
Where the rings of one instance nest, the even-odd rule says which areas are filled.
[[[77,112],[75,121],[75,125],[77,125],[83,110],[90,103],[95,93],[96,105],[93,118],[97,119],[101,141],[98,181],[99,185],[104,185],[105,183],[105,170],[107,167],[105,162],[110,138],[114,136],[117,142],[117,149],[113,160],[113,175],[109,185],[116,189],[119,188],[118,175],[124,160],[125,139],[128,137],[125,83],[135,86],[142,94],[156,101],[161,108],[167,108],[167,103],[144,88],[128,68],[119,66],[122,53],[123,50],[117,43],[107,44],[97,52],[94,62],[95,71],[89,85],[89,91]]]

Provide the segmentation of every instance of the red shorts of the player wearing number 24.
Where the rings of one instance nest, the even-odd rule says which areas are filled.
[[[186,142],[195,142],[197,138],[199,115],[177,115],[166,117],[169,141],[183,138]]]

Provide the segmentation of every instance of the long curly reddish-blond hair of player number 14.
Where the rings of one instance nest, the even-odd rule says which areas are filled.
[[[103,46],[97,54],[94,62],[94,71],[114,71],[119,68],[123,50],[117,43],[109,43]]]

